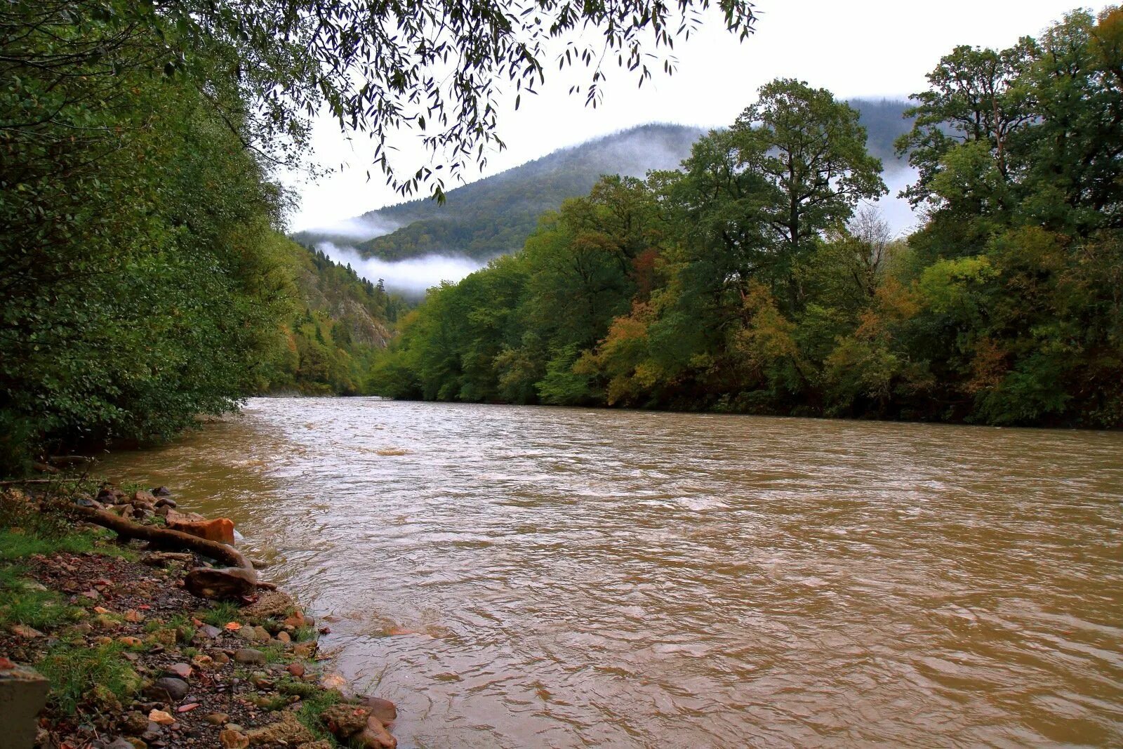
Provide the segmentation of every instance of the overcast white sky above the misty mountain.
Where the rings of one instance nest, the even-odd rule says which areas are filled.
[[[556,64],[551,76],[547,64],[538,97],[523,97],[514,111],[512,95],[500,122],[508,149],[491,156],[486,173],[643,122],[728,125],[774,77],[798,77],[841,98],[903,98],[924,88],[924,74],[955,45],[1010,46],[1075,7],[1071,0],[759,0],[757,33],[749,39],[738,44],[716,19],[676,44],[678,68],[670,77],[657,74],[654,85],[637,90],[627,71],[612,68],[604,103],[595,110],[585,108],[583,95],[568,95],[570,79]],[[394,143],[420,158],[414,139],[402,134]],[[301,195],[293,229],[331,226],[400,202],[377,175],[367,182],[365,138],[353,146],[325,122],[313,146],[320,164],[347,166],[312,183],[293,182]]]

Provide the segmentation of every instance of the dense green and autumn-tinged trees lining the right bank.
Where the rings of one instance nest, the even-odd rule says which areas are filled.
[[[605,177],[431,290],[371,372],[405,399],[1123,426],[1123,12],[959,46],[896,144],[795,80],[682,167]]]

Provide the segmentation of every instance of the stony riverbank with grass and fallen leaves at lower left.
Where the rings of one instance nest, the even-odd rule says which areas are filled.
[[[0,679],[27,665],[49,683],[35,747],[396,746],[393,704],[325,668],[318,623],[283,591],[200,597],[184,586],[209,566],[200,554],[116,539],[67,512],[161,528],[174,501],[53,488],[0,495]]]

